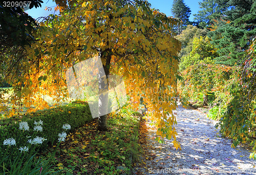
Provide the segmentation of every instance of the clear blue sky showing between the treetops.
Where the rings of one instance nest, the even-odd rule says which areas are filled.
[[[44,17],[48,16],[49,14],[54,13],[54,7],[56,6],[55,3],[53,3],[52,0],[42,0],[44,1],[44,4],[42,4],[41,8],[33,8],[30,10],[27,10],[26,12],[32,16],[33,18],[38,17]],[[201,2],[202,0],[184,0],[185,4],[191,9],[191,15],[189,17],[189,20],[192,21],[194,16],[193,14],[197,13],[199,10],[198,2]],[[151,8],[159,9],[160,12],[165,13],[167,16],[173,16],[170,12],[170,9],[172,8],[173,1],[172,0],[148,0],[148,2],[151,4]],[[45,7],[52,7],[52,11],[45,11]]]

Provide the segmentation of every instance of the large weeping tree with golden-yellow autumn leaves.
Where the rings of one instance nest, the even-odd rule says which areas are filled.
[[[119,74],[125,79],[135,109],[138,94],[144,94],[148,110],[154,112],[157,134],[173,138],[179,147],[172,112],[176,106],[169,100],[177,92],[179,76],[180,42],[172,33],[177,22],[152,10],[146,1],[70,2],[67,8],[61,8],[59,16],[51,15],[40,23],[38,41],[27,47],[29,58],[38,62],[22,63],[28,71],[24,78],[12,82],[13,99],[28,108],[35,105],[36,109],[47,106],[40,94],[59,101],[68,94],[65,71],[82,60],[99,56],[106,76]],[[108,79],[103,83],[99,90],[108,89]],[[99,116],[98,129],[106,130],[106,115]]]

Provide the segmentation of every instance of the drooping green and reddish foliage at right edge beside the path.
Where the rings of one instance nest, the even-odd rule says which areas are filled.
[[[233,139],[232,147],[250,143],[256,148],[256,37],[244,52],[244,61],[227,86],[228,93],[222,96],[224,113],[216,127],[220,133]],[[256,159],[256,152],[250,155]]]

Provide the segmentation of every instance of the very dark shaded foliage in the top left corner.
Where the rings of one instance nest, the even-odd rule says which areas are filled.
[[[30,1],[29,8],[41,7],[41,0]],[[0,52],[14,45],[24,46],[32,39],[35,19],[24,12],[23,7],[7,7],[0,2]]]

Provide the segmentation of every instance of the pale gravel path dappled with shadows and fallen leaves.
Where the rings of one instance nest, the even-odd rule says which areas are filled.
[[[169,140],[156,142],[154,128],[148,131],[147,149],[134,174],[256,174],[256,160],[249,149],[231,148],[231,140],[221,137],[215,120],[205,113],[178,106],[176,131],[181,150]]]

